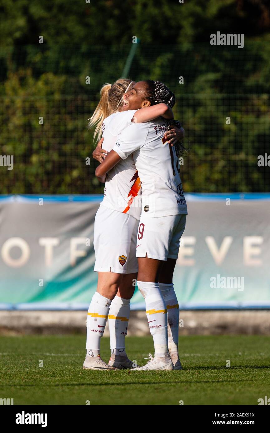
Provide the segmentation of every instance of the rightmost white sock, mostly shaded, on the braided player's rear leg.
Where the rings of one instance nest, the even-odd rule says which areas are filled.
[[[159,289],[163,296],[168,311],[168,343],[169,352],[172,358],[178,357],[179,337],[179,305],[173,283],[159,283]]]

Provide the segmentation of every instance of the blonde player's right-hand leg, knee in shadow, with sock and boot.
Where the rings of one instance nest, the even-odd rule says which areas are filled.
[[[133,362],[128,359],[125,349],[130,315],[130,299],[133,296],[137,273],[124,274],[118,291],[111,303],[108,316],[110,328],[111,358],[109,365],[115,368],[133,368]]]

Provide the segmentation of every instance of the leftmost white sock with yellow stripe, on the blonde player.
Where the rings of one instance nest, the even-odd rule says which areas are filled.
[[[89,356],[100,353],[100,339],[107,322],[111,299],[95,292],[87,314],[86,351]]]

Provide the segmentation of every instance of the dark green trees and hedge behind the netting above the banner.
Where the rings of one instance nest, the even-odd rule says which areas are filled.
[[[129,78],[176,94],[190,144],[184,191],[269,191],[270,167],[257,166],[270,155],[267,0],[2,0],[0,19],[0,154],[14,155],[0,194],[102,192],[87,119],[102,84],[122,75],[133,36]],[[244,48],[210,45],[217,31],[244,33]]]

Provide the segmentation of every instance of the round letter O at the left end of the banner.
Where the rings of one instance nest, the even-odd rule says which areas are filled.
[[[21,250],[21,255],[18,259],[13,259],[12,257],[10,257],[10,250],[15,246],[19,247]],[[10,238],[3,243],[1,255],[3,262],[5,262],[6,265],[12,268],[20,268],[20,266],[25,265],[29,260],[30,247],[28,243],[22,238]]]

